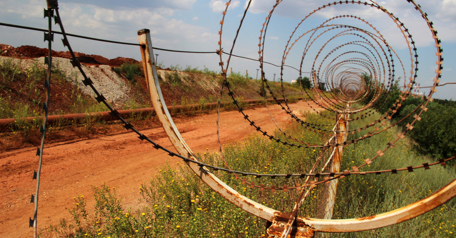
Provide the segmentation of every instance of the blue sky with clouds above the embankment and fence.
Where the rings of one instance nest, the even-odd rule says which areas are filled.
[[[430,20],[434,22],[435,29],[439,32],[439,37],[442,39],[444,69],[441,84],[456,82],[453,77],[456,62],[456,56],[454,54],[456,52],[456,0],[420,0],[416,2],[428,13]],[[237,39],[234,49],[235,54],[255,59],[258,58],[257,45],[262,27],[261,24],[264,22],[268,12],[272,10],[274,3],[275,0],[253,1],[241,28],[240,36]],[[323,2],[318,0],[283,1],[274,11],[268,27],[265,39],[264,60],[280,64],[291,32],[303,17],[322,4]],[[416,42],[419,55],[417,83],[420,83],[422,87],[432,85],[432,80],[435,77],[435,47],[424,20],[417,15],[413,6],[407,3],[406,0],[379,1],[378,4],[384,6],[389,12],[399,17],[410,30]],[[245,0],[235,0],[226,14],[222,34],[222,47],[225,52],[231,49],[245,5]],[[45,7],[46,1],[44,0],[0,0],[0,22],[46,28],[47,22],[43,18],[43,8]],[[218,48],[219,21],[222,17],[221,12],[224,9],[224,1],[60,0],[59,9],[65,30],[69,33],[137,43],[137,30],[148,28],[151,31],[153,45],[155,47],[188,51],[215,51]],[[326,8],[306,20],[305,24],[299,27],[295,36],[320,25],[330,17],[344,14],[362,17],[374,25],[403,60],[406,72],[410,71],[410,57],[407,55],[408,48],[406,47],[404,38],[399,34],[400,31],[393,25],[392,20],[385,13],[373,8],[352,4]],[[369,28],[366,25],[360,24],[359,21],[353,20],[337,21],[334,24],[351,24],[363,29]],[[57,25],[54,27],[57,27]],[[8,44],[14,47],[33,45],[46,48],[46,44],[43,42],[42,32],[4,26],[0,26],[0,32],[1,44]],[[321,41],[319,40],[313,45],[306,55],[302,68],[303,71],[310,71],[318,50],[334,34],[323,34],[319,38]],[[56,35],[56,39],[59,39],[59,37]],[[333,41],[328,45],[329,48],[325,48],[322,51],[322,55],[326,55],[329,52],[327,49],[332,49],[336,45],[350,41],[359,41],[359,38],[350,38],[350,36],[339,37],[337,41]],[[286,64],[299,67],[302,50],[306,43],[307,39],[298,42],[293,47],[287,57]],[[97,54],[106,58],[122,56],[140,60],[139,49],[134,46],[113,45],[78,38],[70,38],[70,44],[74,51],[86,54]],[[65,50],[60,41],[55,41],[54,47],[54,50]],[[346,46],[344,49],[349,51],[359,50],[359,48],[353,45]],[[162,62],[165,66],[179,65],[185,68],[189,65],[199,67],[200,69],[207,67],[211,70],[219,70],[218,56],[215,54],[182,54],[163,51],[155,51],[154,53],[159,54],[158,61]],[[360,56],[352,54],[347,57]],[[321,62],[321,59],[320,57],[316,61]],[[396,73],[402,70],[397,62],[398,60],[395,59]],[[254,61],[234,58],[230,63],[230,67],[236,72],[245,73],[245,70],[248,70],[249,75],[255,78],[256,69],[259,68],[259,64]],[[279,77],[279,68],[265,66],[264,71],[269,80],[273,80],[274,73],[276,73],[276,79]],[[283,78],[284,81],[290,82],[297,76],[294,70],[286,70]],[[398,76],[400,75],[397,75],[396,78]],[[406,77],[408,77],[408,74]],[[425,92],[427,95],[429,89],[422,89],[420,91]],[[434,97],[456,99],[454,92],[456,92],[456,85],[447,85],[445,87],[439,87]]]

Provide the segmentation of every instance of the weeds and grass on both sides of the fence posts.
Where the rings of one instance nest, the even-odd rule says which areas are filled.
[[[317,113],[307,113],[306,117],[308,122],[330,123]],[[378,117],[378,114],[374,114],[373,117]],[[353,122],[352,126],[357,127],[355,123],[364,125],[364,121]],[[386,135],[347,146],[342,168],[362,164],[365,158],[375,154],[378,145],[386,145],[397,134],[397,129],[386,132]],[[327,139],[300,130],[297,124],[287,128],[287,133],[311,143],[321,143]],[[281,139],[286,140],[283,137]],[[404,168],[429,163],[430,158],[410,150],[412,143],[407,139],[396,143],[394,148],[388,150],[365,170]],[[256,135],[244,141],[233,141],[225,146],[224,151],[225,159],[231,168],[268,174],[308,171],[309,162],[315,160],[318,153],[312,148],[282,146]],[[205,152],[199,156],[204,163],[223,166],[218,153]],[[287,193],[259,191],[257,188],[251,189],[248,184],[243,184],[232,174],[214,173],[222,181],[260,204],[282,211],[290,211],[293,206],[295,190]],[[413,173],[348,176],[339,180],[333,218],[372,216],[394,210],[431,194],[455,176],[453,170],[441,166],[434,166],[426,171],[416,170]],[[250,179],[247,178],[247,181]],[[279,178],[255,178],[250,182],[268,187],[287,184],[290,181]],[[294,185],[294,182],[296,181],[288,185]],[[306,200],[301,216],[316,217],[321,187],[314,189]],[[142,184],[139,193],[146,206],[137,211],[126,209],[122,205],[121,197],[116,195],[115,188],[102,184],[100,187],[94,187],[94,191],[94,208],[85,207],[85,197],[75,197],[74,207],[70,209],[74,222],[62,220],[59,225],[50,227],[47,232],[50,235],[74,237],[259,237],[265,234],[265,221],[224,200],[186,167],[166,166],[149,182]],[[357,233],[328,234],[328,237],[391,237],[396,234],[404,237],[413,237],[417,234],[426,237],[451,236],[456,232],[455,205],[456,201],[450,201],[423,216],[398,225]]]

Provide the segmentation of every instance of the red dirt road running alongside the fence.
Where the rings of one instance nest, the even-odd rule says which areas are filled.
[[[316,107],[314,103],[312,106]],[[291,117],[279,106],[270,105],[270,108],[279,125],[291,122]],[[300,110],[312,110],[307,102],[297,102],[292,108],[298,116]],[[275,126],[265,107],[245,112],[258,126],[273,133]],[[176,126],[195,152],[206,151],[206,148],[217,151],[216,118],[215,113],[195,116],[179,120]],[[171,148],[161,127],[142,133]],[[220,114],[222,143],[241,140],[252,133],[255,130],[239,112]],[[34,194],[36,189],[36,180],[32,180],[38,164],[35,154],[36,147],[0,154],[0,237],[31,237],[33,234],[28,220],[33,216],[34,206],[30,203],[30,194]],[[84,194],[88,208],[93,206],[91,185],[99,186],[103,182],[116,187],[117,194],[123,197],[124,206],[135,210],[140,206],[138,188],[141,183],[147,182],[166,163],[174,166],[177,162],[180,160],[154,149],[132,132],[47,144],[43,156],[38,227],[46,228],[57,224],[61,218],[70,218],[68,209],[74,206],[74,196]]]

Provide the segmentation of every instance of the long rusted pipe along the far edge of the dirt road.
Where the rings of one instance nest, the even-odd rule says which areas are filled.
[[[298,98],[297,100],[302,100],[302,98]],[[255,99],[255,100],[244,100],[247,104],[259,104],[263,100]],[[268,102],[273,101],[273,99],[268,99]],[[285,99],[281,98],[279,101],[285,101]],[[228,105],[232,102],[221,102],[223,106]],[[204,108],[212,108],[217,106],[217,102],[210,102],[205,104],[189,104],[189,105],[175,105],[175,106],[168,106],[168,110],[171,112],[180,112],[182,110],[195,110],[200,107]],[[124,118],[130,118],[133,114],[139,114],[141,116],[150,114],[155,115],[154,108],[147,107],[147,108],[139,108],[139,109],[129,109],[129,110],[119,110],[119,113]],[[63,125],[70,125],[72,123],[80,124],[85,118],[92,117],[97,121],[117,121],[119,120],[116,116],[111,116],[109,111],[101,111],[101,112],[89,112],[89,113],[74,113],[74,114],[61,114],[61,115],[50,115],[48,116],[48,124],[55,125],[57,123],[62,123]],[[33,122],[33,120],[42,120],[41,116],[37,117],[25,117],[21,118],[25,122]],[[3,118],[0,119],[0,132],[7,132],[10,131],[10,126],[17,121],[17,118]]]

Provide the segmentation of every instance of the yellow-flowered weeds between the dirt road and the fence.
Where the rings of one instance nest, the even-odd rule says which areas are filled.
[[[316,113],[307,116],[313,122],[328,123]],[[297,138],[314,143],[326,139],[310,132],[298,132],[297,128],[295,124],[287,132],[295,131]],[[315,160],[318,154],[312,148],[287,148],[262,136],[233,141],[225,148],[225,159],[233,169],[265,174],[309,169],[306,162]],[[204,152],[199,156],[204,163],[223,166],[218,153]],[[299,193],[296,190],[272,193],[271,190],[251,189],[232,174],[215,174],[243,195],[278,210],[291,209],[293,202],[290,197],[295,198]],[[286,183],[294,186],[296,181],[253,178],[251,182],[264,186]],[[320,199],[317,190],[306,201],[307,209],[302,210],[306,215],[315,216],[314,205]],[[122,206],[115,188],[102,184],[94,187],[94,191],[94,208],[85,206],[86,197],[75,197],[74,207],[70,209],[74,222],[61,220],[59,225],[47,230],[48,234],[74,237],[259,237],[265,234],[264,220],[227,202],[186,166],[166,166],[149,182],[142,184],[139,187],[141,202],[147,205],[137,211]]]

